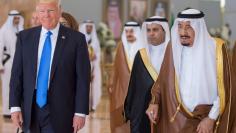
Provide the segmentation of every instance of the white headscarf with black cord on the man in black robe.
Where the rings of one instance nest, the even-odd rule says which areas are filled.
[[[165,41],[157,46],[148,43],[147,40],[147,24],[159,24],[165,31]],[[164,59],[166,47],[170,41],[170,29],[166,18],[160,16],[153,16],[145,20],[142,25],[142,35],[145,44],[145,48],[148,54],[148,57],[151,61],[151,64],[155,68],[155,70],[159,73],[162,65],[162,61]]]

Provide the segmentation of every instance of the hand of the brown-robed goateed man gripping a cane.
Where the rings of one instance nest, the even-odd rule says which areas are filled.
[[[147,111],[146,111],[146,114],[148,115],[150,121],[154,124],[156,124],[157,113],[158,113],[157,104],[150,104]]]

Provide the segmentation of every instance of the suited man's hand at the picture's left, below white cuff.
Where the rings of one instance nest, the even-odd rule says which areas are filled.
[[[20,111],[11,113],[11,120],[17,128],[22,129],[23,118]]]

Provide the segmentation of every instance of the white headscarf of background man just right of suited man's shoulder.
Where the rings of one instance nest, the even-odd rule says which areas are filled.
[[[86,31],[87,25],[91,25],[93,27],[92,32],[90,34],[88,34]],[[91,20],[84,21],[80,25],[79,30],[80,30],[80,32],[82,32],[85,35],[87,43],[89,40],[92,39],[92,42],[90,44],[93,47],[93,49],[95,50],[95,53],[99,54],[99,55],[97,55],[97,57],[100,57],[100,43],[98,40],[98,36],[97,36],[96,27],[95,27],[94,22]]]

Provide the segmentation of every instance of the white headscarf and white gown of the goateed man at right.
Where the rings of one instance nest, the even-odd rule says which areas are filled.
[[[179,13],[171,29],[174,66],[180,79],[180,90],[184,93],[194,91],[194,95],[191,95],[192,102],[183,99],[190,111],[193,111],[197,104],[213,104],[217,99],[216,42],[209,35],[203,17],[204,14],[196,9],[184,10]],[[195,31],[192,47],[180,43],[180,21],[189,21]],[[182,72],[181,67],[184,68]]]

